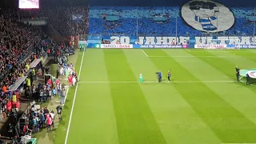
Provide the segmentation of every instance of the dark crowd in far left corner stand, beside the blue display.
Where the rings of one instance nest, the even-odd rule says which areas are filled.
[[[82,15],[81,22],[75,22],[72,15]],[[19,18],[45,18],[63,36],[88,34],[88,6],[46,6],[39,10],[20,10]]]

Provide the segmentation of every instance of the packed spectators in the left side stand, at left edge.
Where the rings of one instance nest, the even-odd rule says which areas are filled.
[[[18,22],[17,10],[0,10],[0,119],[7,105],[10,113],[10,108],[14,108],[18,101],[12,100],[12,94],[7,98],[6,92],[19,78],[28,74],[27,66],[44,53],[42,45],[41,31]]]

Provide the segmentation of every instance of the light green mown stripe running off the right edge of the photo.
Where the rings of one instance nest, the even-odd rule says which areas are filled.
[[[207,54],[208,52],[206,52]],[[228,53],[228,52],[223,52]],[[190,54],[190,53],[188,53]],[[215,53],[217,56],[219,53]],[[195,58],[198,54],[193,54]],[[202,62],[206,62],[209,66],[205,66],[206,73],[210,73],[210,75],[226,75],[226,77],[234,78],[235,77],[235,70],[234,70],[234,61],[230,61],[230,59],[226,58],[218,58],[218,61],[210,61],[209,58],[198,58],[201,59]],[[247,62],[249,61],[249,62]],[[198,65],[203,66],[205,64],[198,63]],[[250,60],[245,59],[243,60],[245,63],[250,63]],[[221,63],[221,64],[220,64]],[[186,64],[184,64],[186,65]],[[254,63],[251,63],[251,66],[254,66]],[[227,70],[226,70],[227,69]],[[222,72],[222,74],[220,74]],[[198,73],[198,78],[201,78],[201,70],[194,71],[194,73]],[[249,118],[251,122],[254,122],[256,124],[256,106],[255,101],[256,98],[254,95],[256,95],[256,91],[254,87],[252,86],[246,86],[242,82],[234,82],[230,83],[229,85],[226,85],[224,83],[218,83],[218,85],[214,83],[206,83],[207,86],[210,87],[210,89],[214,90],[219,96],[224,98],[226,102],[229,102],[232,106],[234,106],[237,110],[239,110],[242,114],[246,116],[246,118]]]

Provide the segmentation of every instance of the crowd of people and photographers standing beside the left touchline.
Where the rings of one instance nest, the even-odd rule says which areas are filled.
[[[74,86],[77,82],[77,74],[74,71],[73,64],[67,64],[66,61],[60,60],[58,63],[58,77],[66,77],[70,86]],[[27,86],[26,96],[34,98],[39,103],[50,102],[52,97],[60,97],[60,104],[64,106],[66,98],[65,85],[58,78],[54,83],[49,79],[45,85],[39,83],[38,86]],[[19,122],[19,133],[26,136],[37,133],[44,128],[47,128],[47,132],[50,132],[54,128],[54,118],[62,118],[62,106],[57,106],[55,108],[57,114],[54,114],[54,110],[48,110],[46,107],[40,110],[33,104],[30,112],[23,115],[22,120]]]

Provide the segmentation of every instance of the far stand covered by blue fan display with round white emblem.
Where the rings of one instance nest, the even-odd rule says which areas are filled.
[[[253,36],[254,8],[235,7],[229,9],[223,5],[217,7],[218,19],[216,22],[218,22],[217,25],[220,27],[217,30],[218,35]],[[138,36],[175,36],[177,34],[177,36],[189,36],[190,38],[194,36],[214,36],[217,34],[209,33],[206,29],[199,30],[202,28],[198,28],[196,25],[192,26],[193,22],[190,23],[187,20],[194,20],[194,16],[187,14],[187,11],[182,14],[183,9],[190,11],[190,13],[193,12],[190,6],[91,6],[89,12],[90,36],[88,41],[89,43],[90,40],[97,41],[102,39],[108,41],[110,35],[128,35],[131,42],[134,42],[137,32]],[[225,19],[230,21],[226,22]],[[199,21],[202,21],[202,19]],[[98,37],[95,35],[98,35]]]

